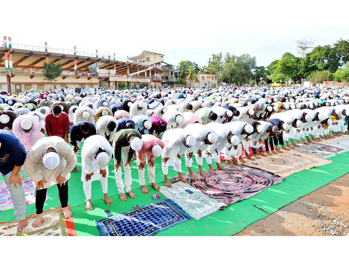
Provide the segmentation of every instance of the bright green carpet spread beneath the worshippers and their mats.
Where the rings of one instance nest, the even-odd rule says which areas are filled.
[[[83,144],[81,144],[81,147],[82,145]],[[99,235],[93,220],[105,218],[106,216],[103,210],[109,209],[113,213],[113,215],[116,215],[132,210],[133,205],[135,204],[144,206],[157,201],[153,200],[151,195],[157,193],[158,191],[155,191],[153,188],[151,188],[149,182],[147,183],[147,186],[149,185],[148,189],[150,191],[150,194],[142,194],[135,161],[132,162],[131,169],[133,176],[132,191],[136,194],[136,197],[133,199],[128,197],[128,200],[126,202],[120,201],[114,177],[114,162],[112,159],[109,163],[108,195],[114,203],[111,206],[107,206],[105,204],[102,199],[103,192],[101,183],[99,181],[94,181],[92,182],[92,204],[94,210],[85,210],[86,199],[82,188],[82,182],[80,180],[80,152],[77,164],[80,172],[71,173],[72,176],[69,179],[68,202],[73,213],[73,221],[78,236]],[[191,219],[185,223],[181,223],[174,227],[168,228],[165,231],[159,232],[156,235],[223,236],[236,234],[237,232],[243,230],[245,227],[253,224],[255,221],[267,217],[269,214],[295,201],[299,197],[309,194],[310,192],[346,174],[349,169],[349,164],[347,163],[348,156],[349,152],[338,154],[335,157],[329,158],[329,160],[333,160],[333,163],[292,174],[286,177],[285,181],[283,181],[282,183],[267,188],[254,197],[230,205],[223,211],[217,211],[210,216],[204,217],[200,220]],[[161,159],[157,158],[155,163],[155,181],[159,186],[161,186],[163,185],[164,178],[161,169]],[[183,173],[187,173],[188,169],[185,166],[184,158],[182,158],[182,168]],[[205,161],[203,168],[204,170],[208,170],[208,165]],[[193,171],[199,171],[195,158],[193,162]],[[175,175],[177,175],[177,172],[174,172],[173,169],[170,169],[170,179]],[[3,180],[2,177],[0,179]],[[147,170],[146,181],[148,181]],[[49,188],[48,194],[49,200],[45,202],[44,210],[49,210],[60,206],[57,187],[53,186]],[[160,195],[162,198],[165,198],[161,193]],[[35,214],[35,212],[35,205],[27,205],[26,215]],[[0,215],[0,221],[9,221],[15,219],[13,209],[2,211],[0,212]]]

